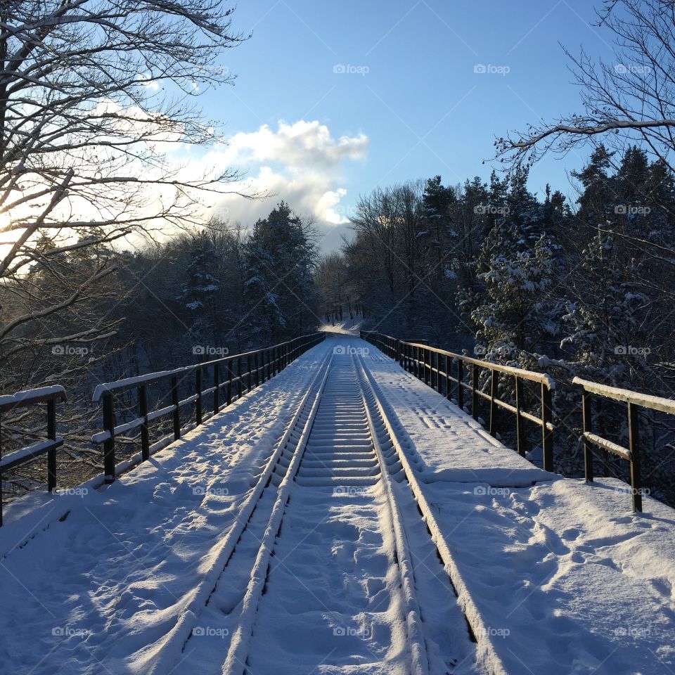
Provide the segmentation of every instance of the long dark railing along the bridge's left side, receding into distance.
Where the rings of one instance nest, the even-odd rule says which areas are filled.
[[[307,352],[307,349],[314,347],[325,338],[325,333],[312,333],[264,349],[223,356],[201,364],[175,368],[172,371],[148,373],[135,378],[124,378],[97,385],[92,398],[94,403],[101,404],[103,409],[103,430],[94,434],[91,440],[94,444],[103,444],[105,481],[115,480],[116,437],[140,428],[141,461],[146,461],[151,451],[156,451],[178,440],[186,430],[181,423],[181,409],[185,406],[194,406],[195,423],[193,426],[198,426],[211,414],[219,412],[221,407],[229,406],[243,394],[274,377],[298,356]],[[192,376],[194,377],[194,393],[181,399],[179,385]],[[212,384],[205,386],[205,380],[209,376]],[[150,411],[148,409],[148,387],[165,382],[169,383],[167,393],[171,403]],[[138,413],[135,418],[118,425],[115,422],[115,394],[128,390],[136,390]],[[212,413],[205,411],[206,397],[212,397]],[[172,417],[172,433],[151,446],[150,423],[169,415]]]

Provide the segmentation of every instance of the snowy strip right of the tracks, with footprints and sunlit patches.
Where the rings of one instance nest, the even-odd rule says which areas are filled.
[[[366,365],[506,669],[675,671],[675,511],[647,498],[634,515],[622,482],[591,486],[536,468],[371,345],[352,346],[369,350]]]

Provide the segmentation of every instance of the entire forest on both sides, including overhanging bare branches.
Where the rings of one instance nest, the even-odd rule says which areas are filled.
[[[232,9],[176,14],[151,3],[142,20],[116,15],[107,32],[89,30],[108,21],[103,6],[101,16],[75,14],[67,29],[49,3],[1,10],[14,27],[0,46],[14,56],[0,98],[0,391],[66,388],[60,454],[76,484],[101,468],[91,443],[96,383],[267,347],[348,317],[550,374],[559,383],[556,466],[581,475],[574,376],[675,396],[674,143],[660,114],[671,84],[667,68],[648,70],[675,41],[660,4],[624,0],[630,20],[613,5],[600,17],[617,53],[641,68],[570,56],[584,114],[498,138],[503,171],[489,178],[411,176],[362,194],[349,236],[329,253],[312,214],[283,194],[255,222],[213,209],[205,217],[205,195],[228,193],[236,172],[188,179],[164,153],[226,142],[189,100],[232,82],[214,63],[248,38],[233,31]],[[49,30],[24,53],[34,13]],[[176,92],[187,103],[176,106]],[[626,115],[626,92],[640,119]],[[574,200],[570,186],[530,191],[533,162],[589,139],[588,160],[571,169]],[[642,414],[645,485],[675,503],[672,425]],[[598,420],[625,438],[618,410]],[[3,451],[26,434],[39,437],[31,414],[19,412],[4,422]],[[41,471],[4,475],[4,489],[31,489]]]

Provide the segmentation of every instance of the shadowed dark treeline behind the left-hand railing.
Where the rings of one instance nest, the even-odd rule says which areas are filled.
[[[311,221],[281,203],[248,229],[214,220],[134,250],[73,243],[70,250],[49,255],[49,239],[39,240],[36,255],[49,264],[32,266],[0,286],[1,390],[51,383],[66,388],[69,401],[59,413],[59,432],[68,439],[58,461],[61,484],[76,484],[101,470],[101,449],[91,444],[91,432],[101,426],[101,412],[91,405],[97,383],[262,348],[316,330],[315,239]],[[97,269],[114,273],[73,297],[72,288]],[[45,311],[56,304],[63,307]],[[26,317],[7,330],[14,319]],[[193,386],[192,381],[183,385],[186,392]],[[44,434],[37,411],[3,421],[4,454],[25,445],[27,435]],[[6,494],[30,489],[44,482],[44,462],[5,473],[3,482]]]

